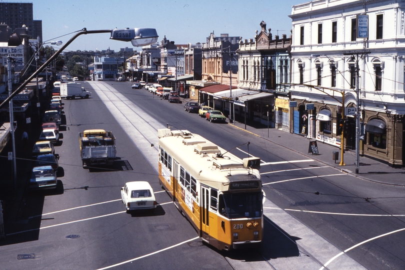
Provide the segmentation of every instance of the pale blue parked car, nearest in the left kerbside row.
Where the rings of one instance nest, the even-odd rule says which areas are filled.
[[[52,166],[38,166],[32,168],[29,188],[55,188],[56,183],[56,173]]]

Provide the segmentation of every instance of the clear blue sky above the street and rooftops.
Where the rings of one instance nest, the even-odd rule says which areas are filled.
[[[16,1],[3,1],[16,2]],[[25,1],[22,1],[25,2]],[[66,42],[72,32],[113,28],[156,28],[158,41],[175,44],[205,42],[209,33],[253,38],[264,20],[273,35],[290,34],[291,6],[306,0],[27,0],[33,18],[42,20],[42,38]],[[68,50],[119,50],[130,42],[110,40],[109,34],[77,37]],[[134,47],[136,49],[136,47]],[[139,50],[140,48],[138,48]]]

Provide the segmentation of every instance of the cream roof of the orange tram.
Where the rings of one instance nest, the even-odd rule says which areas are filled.
[[[165,131],[159,144],[193,177],[202,183],[223,189],[234,181],[260,180],[257,169],[246,167],[243,160],[213,142],[187,130]]]

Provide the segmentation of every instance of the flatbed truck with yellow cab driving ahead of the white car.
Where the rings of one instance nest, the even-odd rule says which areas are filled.
[[[83,168],[89,165],[111,165],[116,156],[115,137],[104,129],[79,132],[80,155]]]

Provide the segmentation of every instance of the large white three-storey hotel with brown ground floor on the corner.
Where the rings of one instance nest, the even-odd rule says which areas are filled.
[[[292,6],[292,132],[339,146],[342,107],[358,105],[361,125],[344,117],[344,147],[356,146],[359,130],[360,154],[403,166],[404,12],[405,2],[389,0]]]

